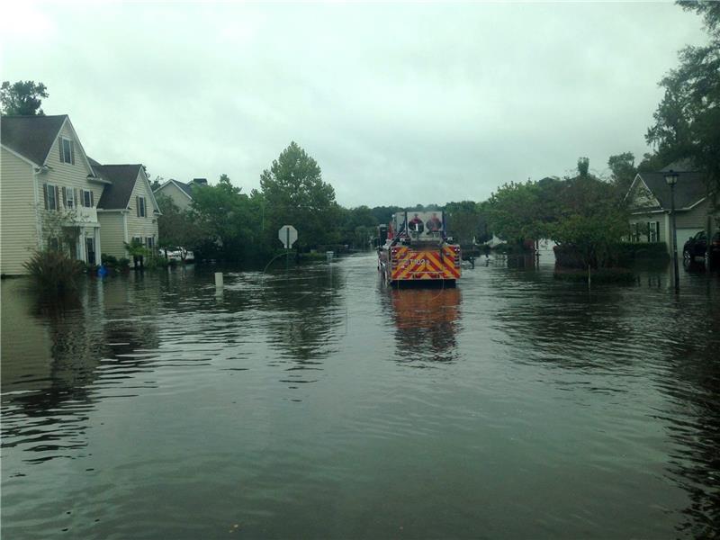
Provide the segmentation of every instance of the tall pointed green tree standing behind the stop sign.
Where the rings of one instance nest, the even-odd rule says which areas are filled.
[[[276,231],[286,224],[298,229],[298,249],[338,243],[340,209],[335,190],[322,181],[318,163],[291,142],[260,175],[266,202],[266,238],[277,245]]]

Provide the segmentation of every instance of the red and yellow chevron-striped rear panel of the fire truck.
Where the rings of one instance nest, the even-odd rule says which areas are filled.
[[[410,247],[392,247],[392,280],[458,279],[460,277],[459,253],[453,247],[414,251]],[[455,261],[457,257],[457,261]]]

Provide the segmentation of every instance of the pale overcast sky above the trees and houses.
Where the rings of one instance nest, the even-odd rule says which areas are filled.
[[[698,15],[669,3],[4,4],[2,79],[88,154],[249,192],[297,141],[338,202],[484,200],[647,151]]]

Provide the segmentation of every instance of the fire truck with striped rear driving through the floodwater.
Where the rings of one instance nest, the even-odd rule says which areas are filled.
[[[386,284],[455,286],[460,246],[446,236],[442,211],[401,211],[380,227],[378,270]]]

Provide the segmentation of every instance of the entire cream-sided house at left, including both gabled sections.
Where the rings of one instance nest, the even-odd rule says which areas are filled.
[[[33,250],[88,264],[157,246],[159,209],[141,165],[100,165],[67,114],[0,118],[0,274],[24,274]]]

